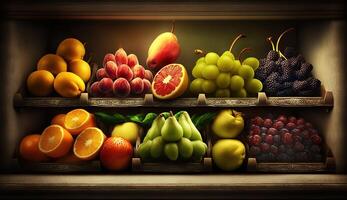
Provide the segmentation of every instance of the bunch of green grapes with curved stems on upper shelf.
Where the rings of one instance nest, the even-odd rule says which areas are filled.
[[[194,80],[189,88],[192,94],[205,93],[218,98],[245,98],[256,96],[262,91],[262,82],[254,78],[255,70],[259,67],[259,60],[255,57],[241,59],[242,55],[251,49],[242,49],[237,60],[232,53],[236,42],[244,37],[246,36],[238,35],[229,50],[224,51],[220,56],[215,52],[205,54],[200,49],[195,50],[195,54],[201,57],[192,70]]]

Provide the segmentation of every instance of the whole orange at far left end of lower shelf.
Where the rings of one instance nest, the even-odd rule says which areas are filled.
[[[39,150],[39,134],[25,136],[19,145],[20,156],[29,161],[42,162],[48,160],[48,157]]]

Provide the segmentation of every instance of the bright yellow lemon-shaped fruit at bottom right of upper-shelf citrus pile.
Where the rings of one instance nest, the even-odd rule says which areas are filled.
[[[85,90],[83,80],[72,72],[61,72],[54,80],[55,91],[63,97],[77,97]]]

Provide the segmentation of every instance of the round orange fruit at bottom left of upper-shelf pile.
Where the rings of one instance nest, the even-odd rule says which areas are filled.
[[[27,79],[27,88],[34,96],[48,96],[53,92],[54,76],[47,70],[32,72]]]

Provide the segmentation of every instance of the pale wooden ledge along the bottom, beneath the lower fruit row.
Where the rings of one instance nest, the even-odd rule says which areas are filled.
[[[346,193],[347,176],[337,174],[0,175],[1,199],[344,199]]]

